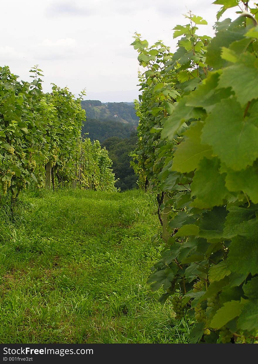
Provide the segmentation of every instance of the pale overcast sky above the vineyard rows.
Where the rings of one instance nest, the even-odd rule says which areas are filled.
[[[190,10],[208,21],[200,33],[213,35],[220,5],[212,1],[2,0],[0,66],[29,80],[39,64],[45,92],[53,82],[76,96],[85,88],[85,99],[130,102],[139,94],[134,32],[149,44],[163,40],[174,52],[172,29],[187,24],[183,14]]]

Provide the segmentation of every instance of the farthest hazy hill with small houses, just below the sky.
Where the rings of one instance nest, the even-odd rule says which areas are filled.
[[[134,126],[137,126],[139,122],[133,102],[102,103],[99,100],[83,100],[81,106],[86,111],[86,119],[114,120],[124,124],[133,124]]]

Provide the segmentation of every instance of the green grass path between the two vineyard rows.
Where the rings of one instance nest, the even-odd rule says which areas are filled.
[[[42,191],[0,213],[0,343],[186,343],[146,279],[159,257],[151,195]]]

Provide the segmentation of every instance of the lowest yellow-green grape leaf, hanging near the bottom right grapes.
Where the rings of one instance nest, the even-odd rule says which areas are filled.
[[[228,321],[239,316],[243,309],[244,304],[240,301],[225,302],[223,307],[220,308],[211,320],[211,327],[214,329],[220,329],[226,325]]]

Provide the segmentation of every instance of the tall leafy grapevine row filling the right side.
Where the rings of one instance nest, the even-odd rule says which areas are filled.
[[[134,37],[145,72],[133,165],[164,196],[152,289],[163,286],[164,302],[180,288],[196,320],[191,343],[249,343],[258,329],[258,9],[219,4],[218,20],[235,5],[245,12],[218,21],[213,39],[197,35],[207,23],[191,12],[174,28],[174,54]]]

